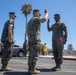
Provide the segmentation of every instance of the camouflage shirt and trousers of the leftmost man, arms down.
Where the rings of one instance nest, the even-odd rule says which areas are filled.
[[[9,19],[6,21],[4,25],[4,29],[2,32],[2,37],[1,37],[1,42],[3,43],[4,48],[2,49],[2,60],[1,63],[5,66],[7,66],[12,53],[13,53],[13,43],[8,42],[8,27],[12,26],[14,30],[14,21],[12,19]],[[13,34],[14,31],[12,30]],[[14,35],[12,34],[13,40],[14,40]]]

